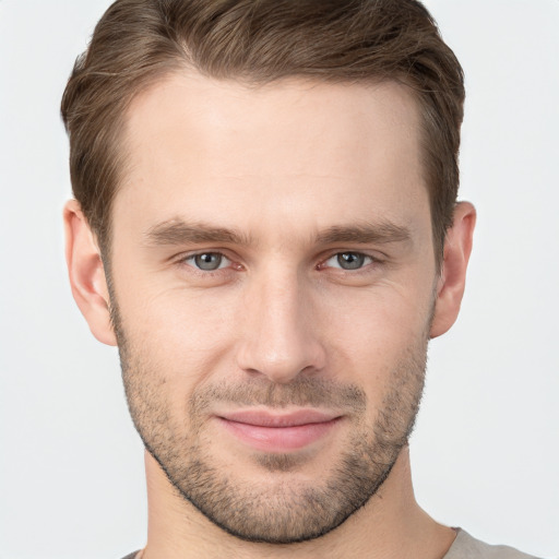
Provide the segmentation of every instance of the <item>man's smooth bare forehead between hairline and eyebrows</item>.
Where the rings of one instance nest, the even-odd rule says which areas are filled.
[[[334,213],[352,221],[366,210],[399,217],[404,206],[426,207],[417,104],[396,83],[255,87],[174,74],[134,99],[123,143],[115,212],[154,221],[211,209],[225,221],[280,223],[312,207],[320,225]]]

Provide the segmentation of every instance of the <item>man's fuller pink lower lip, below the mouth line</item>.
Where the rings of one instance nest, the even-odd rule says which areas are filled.
[[[335,418],[330,421],[293,427],[262,427],[231,421],[223,417],[218,419],[237,439],[264,452],[289,452],[304,449],[325,437],[340,420]]]

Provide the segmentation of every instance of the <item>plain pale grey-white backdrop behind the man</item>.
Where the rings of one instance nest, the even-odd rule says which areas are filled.
[[[559,1],[429,0],[467,82],[461,198],[479,219],[462,314],[430,348],[419,502],[559,555]],[[59,103],[106,0],[0,0],[0,558],[118,559],[145,540],[117,353],[70,295]]]

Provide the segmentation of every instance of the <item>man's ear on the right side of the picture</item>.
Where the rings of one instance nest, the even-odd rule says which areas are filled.
[[[444,240],[444,257],[441,275],[437,284],[431,337],[444,334],[454,324],[459,316],[475,224],[475,207],[469,202],[460,202],[454,210],[453,225],[447,231]]]

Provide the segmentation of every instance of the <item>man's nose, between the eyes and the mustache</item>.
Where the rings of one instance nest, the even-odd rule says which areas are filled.
[[[237,352],[241,370],[286,384],[324,368],[321,321],[308,292],[296,274],[263,274],[250,282]]]

